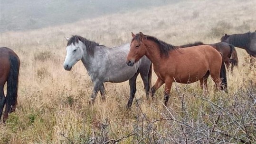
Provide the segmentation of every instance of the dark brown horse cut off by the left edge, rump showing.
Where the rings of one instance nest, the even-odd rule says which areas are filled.
[[[6,47],[0,48],[0,118],[4,104],[6,104],[3,122],[8,118],[8,114],[15,110],[17,104],[19,66],[20,60],[14,51]],[[3,88],[6,82],[7,94],[5,97]]]

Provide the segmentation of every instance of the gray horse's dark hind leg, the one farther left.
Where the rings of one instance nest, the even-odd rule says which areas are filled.
[[[129,85],[130,85],[130,98],[129,98],[129,101],[127,103],[127,108],[130,109],[131,106],[132,106],[132,103],[133,103],[133,98],[134,98],[134,95],[136,93],[136,79],[137,79],[137,76],[138,76],[139,73],[135,73],[134,76],[129,79]]]

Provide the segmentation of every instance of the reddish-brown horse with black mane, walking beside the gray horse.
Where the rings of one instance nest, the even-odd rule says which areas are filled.
[[[128,66],[146,55],[154,65],[158,76],[151,89],[155,91],[165,83],[164,104],[167,105],[173,82],[190,84],[200,80],[202,88],[207,88],[207,78],[213,78],[217,88],[227,89],[226,69],[221,54],[209,45],[199,45],[180,49],[155,37],[134,35],[126,59]],[[222,79],[221,79],[221,78]]]

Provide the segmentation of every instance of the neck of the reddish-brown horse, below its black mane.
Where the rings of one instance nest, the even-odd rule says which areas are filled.
[[[156,42],[152,42],[149,40],[144,40],[143,42],[146,46],[146,52],[145,55],[148,57],[148,59],[151,60],[151,62],[155,66],[159,66],[159,63],[161,62],[161,54],[159,50],[159,45]]]

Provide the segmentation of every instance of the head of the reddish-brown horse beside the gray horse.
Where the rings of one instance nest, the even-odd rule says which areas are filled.
[[[131,48],[126,58],[126,64],[130,67],[140,60],[146,52],[146,46],[143,43],[144,34],[140,32],[140,34],[135,35],[132,32],[132,36]]]

